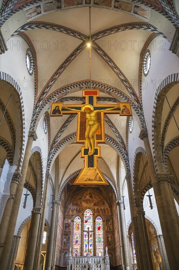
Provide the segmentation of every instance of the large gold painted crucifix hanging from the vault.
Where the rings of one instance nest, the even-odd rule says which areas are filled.
[[[132,115],[131,104],[120,102],[117,105],[97,104],[99,90],[85,89],[83,97],[86,97],[85,105],[64,105],[53,103],[50,116],[62,116],[63,114],[78,114],[77,142],[84,142],[81,157],[85,158],[85,165],[74,182],[74,185],[108,185],[102,172],[97,166],[97,158],[100,157],[98,142],[105,142],[104,113],[118,113],[120,115]]]

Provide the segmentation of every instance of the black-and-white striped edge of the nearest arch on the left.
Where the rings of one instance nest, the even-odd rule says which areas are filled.
[[[23,106],[23,97],[22,97],[22,91],[18,83],[7,73],[0,72],[0,80],[7,81],[11,83],[16,91],[19,94],[20,102],[21,102],[21,114],[22,114],[22,150],[20,152],[21,160],[19,161],[19,172],[21,172],[22,167],[22,161],[23,161],[23,155],[24,155],[24,147],[25,147],[25,114],[24,114],[24,106]]]

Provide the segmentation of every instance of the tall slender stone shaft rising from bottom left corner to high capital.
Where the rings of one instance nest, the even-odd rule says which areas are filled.
[[[25,183],[25,177],[26,177],[26,173],[27,173],[28,162],[30,159],[30,152],[31,152],[31,148],[32,148],[32,143],[36,139],[37,139],[37,135],[36,135],[35,131],[29,132],[27,145],[26,145],[26,149],[25,149],[25,153],[24,153],[24,158],[23,158],[23,162],[22,162],[22,170],[21,170],[22,177],[19,181],[19,185],[17,187],[17,191],[16,191],[16,194],[14,196],[14,201],[13,201],[13,205],[12,205],[12,212],[11,212],[11,216],[10,216],[8,227],[7,227],[5,245],[3,247],[1,259],[0,259],[0,268],[4,269],[4,270],[7,269],[7,264],[8,264],[8,260],[9,260],[11,244],[12,244],[12,239],[14,236],[19,207],[20,207],[20,203],[21,203],[22,191],[23,191],[23,186]]]

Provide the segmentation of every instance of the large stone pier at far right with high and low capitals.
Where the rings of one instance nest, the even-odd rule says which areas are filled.
[[[146,130],[142,130],[139,135],[140,139],[144,141],[145,150],[147,154],[147,161],[149,165],[149,172],[152,180],[152,186],[154,188],[158,216],[162,229],[163,239],[165,242],[165,248],[167,251],[170,270],[176,270],[179,265],[178,252],[178,240],[179,240],[179,227],[177,218],[171,203],[171,196],[169,192],[168,184],[171,182],[171,177],[166,176],[165,173],[157,174],[153,161],[153,156],[150,148],[148,134]],[[165,175],[165,176],[162,176]],[[170,180],[166,180],[166,179]],[[165,180],[162,180],[165,179]],[[168,182],[167,182],[168,181]],[[170,216],[170,218],[169,218]],[[173,223],[172,223],[173,222]],[[174,236],[174,237],[171,237]],[[176,248],[178,247],[178,248]]]

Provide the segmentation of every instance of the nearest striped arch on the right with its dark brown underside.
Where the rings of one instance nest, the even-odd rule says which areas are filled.
[[[160,83],[160,85],[157,87],[156,90],[152,116],[152,149],[156,172],[158,172],[158,169],[165,170],[165,168],[163,164],[163,154],[162,154],[163,149],[161,149],[161,147],[159,146],[161,141],[159,141],[158,143],[158,138],[161,137],[160,128],[156,129],[155,127],[158,126],[159,117],[161,117],[161,112],[163,109],[163,103],[166,93],[178,82],[179,82],[179,73],[171,74]],[[160,92],[162,93],[160,94]]]

